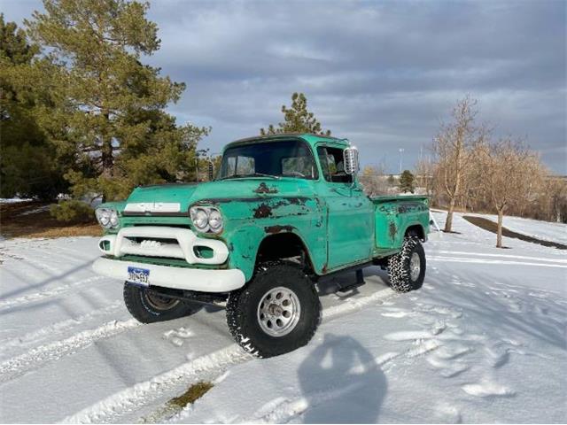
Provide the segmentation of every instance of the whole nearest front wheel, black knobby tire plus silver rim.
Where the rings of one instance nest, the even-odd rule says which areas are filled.
[[[260,266],[242,290],[231,292],[227,322],[237,344],[260,358],[306,345],[321,321],[315,285],[290,263]]]

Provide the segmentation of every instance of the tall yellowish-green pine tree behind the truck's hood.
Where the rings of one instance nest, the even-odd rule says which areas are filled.
[[[138,184],[175,182],[194,173],[206,128],[177,126],[165,112],[185,85],[159,75],[141,57],[159,50],[147,3],[43,0],[26,20],[45,50],[34,72],[49,88],[43,129],[68,165],[75,197],[126,197]]]

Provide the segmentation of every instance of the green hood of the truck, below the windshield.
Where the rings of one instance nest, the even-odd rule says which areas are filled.
[[[230,179],[203,183],[169,183],[134,189],[127,203],[179,203],[180,212],[199,201],[221,203],[231,199],[306,197],[312,192],[305,180],[282,178]]]

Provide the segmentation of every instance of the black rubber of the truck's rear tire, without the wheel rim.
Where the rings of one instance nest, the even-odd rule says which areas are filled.
[[[411,277],[410,261],[412,255],[416,253],[420,260],[420,272],[414,280]],[[396,255],[388,259],[388,275],[390,286],[396,292],[409,292],[419,290],[425,279],[425,251],[423,245],[416,236],[409,236],[404,239],[401,250]]]

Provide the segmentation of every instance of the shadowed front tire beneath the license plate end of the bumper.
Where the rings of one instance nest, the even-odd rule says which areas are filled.
[[[151,294],[151,290],[140,285],[124,282],[124,303],[128,312],[142,323],[153,323],[156,321],[171,321],[180,317],[197,313],[200,305],[193,304],[182,300],[171,300],[170,305],[167,301],[162,308],[159,308],[155,302],[155,295]],[[154,301],[152,302],[152,298]]]

